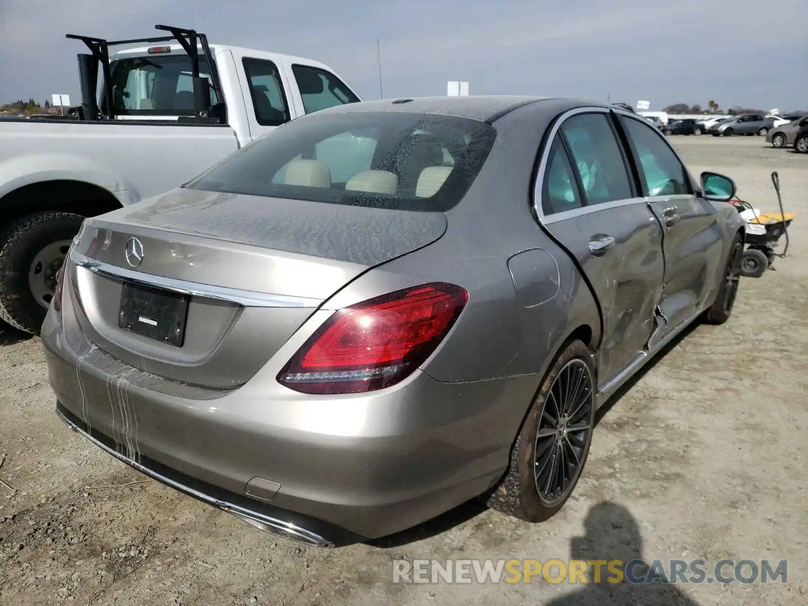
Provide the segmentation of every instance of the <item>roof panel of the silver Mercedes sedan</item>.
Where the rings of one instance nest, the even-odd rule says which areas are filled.
[[[320,110],[317,113],[349,113],[349,112],[413,112],[423,114],[444,114],[459,116],[472,120],[493,122],[500,117],[532,103],[547,103],[548,111],[558,106],[581,105],[587,107],[613,107],[598,101],[585,99],[560,99],[558,97],[539,97],[522,95],[468,95],[458,97],[402,97],[400,99],[377,99],[361,103],[347,103]],[[564,103],[566,102],[566,103]]]

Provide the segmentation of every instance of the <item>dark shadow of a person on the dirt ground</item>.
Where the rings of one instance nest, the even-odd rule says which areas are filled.
[[[662,572],[667,579],[667,570],[651,570],[642,559],[639,524],[625,507],[608,501],[598,503],[589,510],[584,527],[586,534],[570,543],[570,559],[602,563],[587,566],[585,585],[546,606],[698,606],[672,583],[645,582],[659,578],[654,572]],[[667,566],[665,561],[662,564]],[[600,569],[600,574],[595,569]]]

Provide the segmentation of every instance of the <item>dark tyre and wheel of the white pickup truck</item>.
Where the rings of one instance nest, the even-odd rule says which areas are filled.
[[[38,335],[56,290],[57,271],[84,217],[34,213],[0,233],[0,319]]]

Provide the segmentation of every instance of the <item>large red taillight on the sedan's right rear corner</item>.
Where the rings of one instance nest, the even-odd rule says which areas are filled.
[[[437,282],[391,292],[335,312],[280,371],[302,393],[360,393],[408,377],[435,351],[469,293]]]

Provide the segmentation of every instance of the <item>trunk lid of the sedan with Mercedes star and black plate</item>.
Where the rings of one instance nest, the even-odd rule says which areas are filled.
[[[345,284],[445,229],[443,213],[178,189],[86,220],[70,287],[112,356],[228,388]]]

